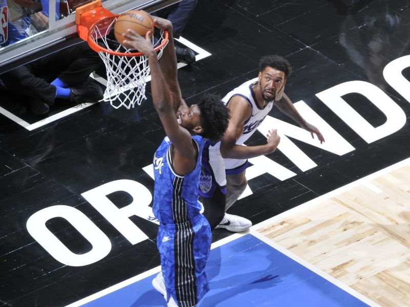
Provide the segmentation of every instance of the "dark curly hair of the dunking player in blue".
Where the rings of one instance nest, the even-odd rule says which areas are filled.
[[[223,104],[220,96],[206,94],[197,103],[202,126],[201,136],[211,141],[219,141],[228,128],[229,109]]]

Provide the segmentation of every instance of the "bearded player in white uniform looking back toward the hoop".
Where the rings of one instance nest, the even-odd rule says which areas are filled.
[[[246,218],[226,213],[247,186],[245,169],[249,158],[273,152],[280,138],[276,129],[269,130],[267,144],[244,146],[273,104],[285,115],[316,134],[324,142],[320,131],[306,122],[284,93],[291,65],[278,55],[264,56],[259,63],[258,77],[243,83],[228,93],[223,101],[230,109],[231,119],[226,134],[219,143],[208,144],[202,153],[202,173],[199,194],[211,228],[244,231],[252,226]]]

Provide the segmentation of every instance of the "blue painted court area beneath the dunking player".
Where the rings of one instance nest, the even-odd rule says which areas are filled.
[[[207,274],[211,290],[199,307],[367,306],[251,234],[211,250]],[[166,306],[153,277],[84,306]]]

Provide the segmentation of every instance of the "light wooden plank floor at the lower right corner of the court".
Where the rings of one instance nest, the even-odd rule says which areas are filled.
[[[405,164],[274,217],[258,232],[381,306],[410,306]]]

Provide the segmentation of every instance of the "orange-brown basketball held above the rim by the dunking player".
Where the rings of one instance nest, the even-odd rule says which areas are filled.
[[[122,13],[118,16],[114,25],[115,39],[121,43],[127,39],[123,33],[127,33],[127,29],[131,29],[141,36],[145,36],[148,31],[151,31],[151,37],[154,33],[154,25],[150,14],[144,11],[131,10]]]

